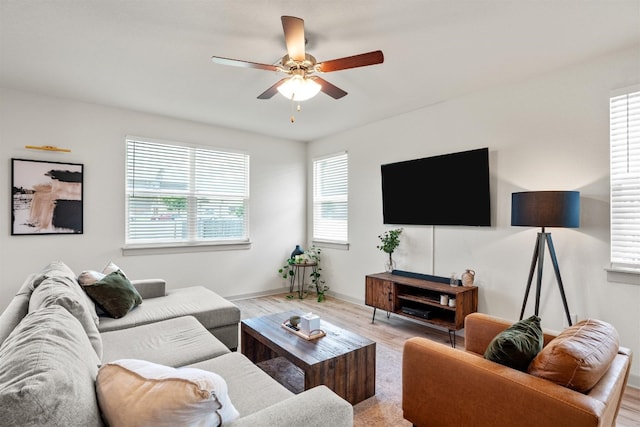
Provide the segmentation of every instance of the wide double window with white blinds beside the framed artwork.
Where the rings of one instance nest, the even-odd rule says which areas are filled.
[[[248,241],[249,156],[127,138],[126,243]]]

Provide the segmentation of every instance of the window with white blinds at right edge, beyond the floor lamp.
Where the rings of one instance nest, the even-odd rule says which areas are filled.
[[[610,99],[611,266],[640,269],[640,87]]]

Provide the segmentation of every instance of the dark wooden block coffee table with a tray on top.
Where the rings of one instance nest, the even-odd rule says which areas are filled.
[[[300,311],[246,319],[240,325],[240,349],[253,363],[285,357],[304,372],[304,389],[324,384],[355,405],[376,392],[376,343],[320,320],[326,335],[306,340],[281,323]]]

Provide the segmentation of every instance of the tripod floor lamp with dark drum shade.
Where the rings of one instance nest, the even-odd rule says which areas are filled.
[[[522,310],[520,311],[520,320],[524,316],[524,309],[529,298],[531,290],[531,282],[533,273],[538,266],[538,275],[536,281],[536,306],[535,315],[538,315],[540,308],[540,289],[542,288],[542,266],[544,263],[545,244],[549,248],[549,255],[553,263],[553,270],[556,273],[556,280],[564,305],[564,312],[567,315],[569,326],[572,325],[571,316],[569,315],[569,306],[567,298],[564,294],[564,286],[560,277],[560,269],[558,268],[558,259],[556,251],[553,248],[553,240],[551,233],[545,231],[545,227],[569,227],[576,228],[580,226],[580,192],[578,191],[524,191],[513,193],[511,195],[511,225],[522,227],[542,227],[542,231],[538,233],[536,246],[533,250],[533,259],[531,260],[531,269],[529,270],[529,281],[527,282],[527,290],[524,294],[522,302]]]

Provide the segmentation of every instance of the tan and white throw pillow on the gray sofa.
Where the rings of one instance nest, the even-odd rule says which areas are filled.
[[[117,360],[100,368],[96,391],[111,426],[218,426],[239,415],[224,379],[201,369]]]

